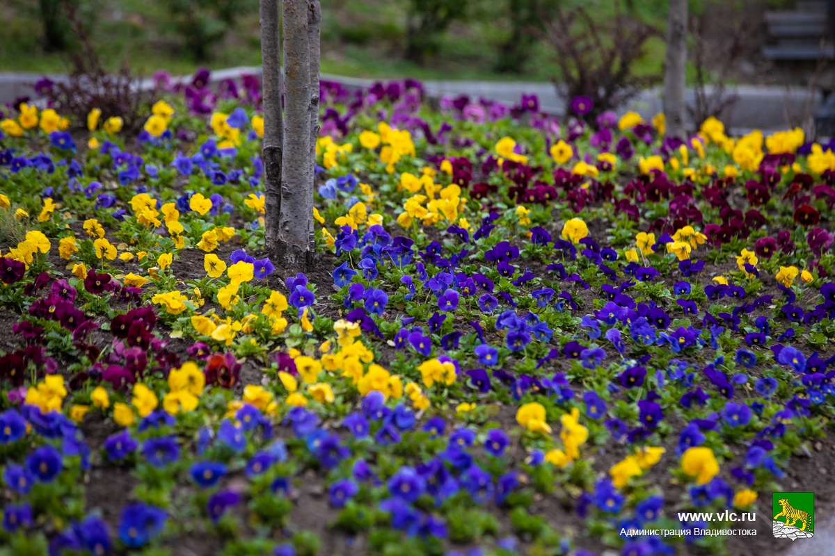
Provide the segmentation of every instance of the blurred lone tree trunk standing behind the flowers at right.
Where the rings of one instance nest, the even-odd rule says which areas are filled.
[[[670,0],[664,71],[664,116],[667,137],[686,138],[684,122],[687,63],[687,0]]]

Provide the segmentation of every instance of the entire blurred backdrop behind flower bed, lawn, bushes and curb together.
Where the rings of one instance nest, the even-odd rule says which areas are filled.
[[[566,99],[587,95],[595,109],[629,107],[651,116],[660,109],[667,6],[321,0],[321,71],[430,80],[430,93],[438,95],[515,102],[520,91],[535,93],[550,113],[564,113]],[[158,70],[187,75],[261,64],[258,0],[3,0],[0,18],[3,102],[20,96],[18,83],[33,74],[72,73],[79,53],[95,52],[106,71],[127,68],[146,78]],[[713,115],[731,118],[740,130],[812,132],[817,111],[829,118],[827,134],[835,134],[833,21],[835,0],[691,0],[688,119],[697,124]],[[3,85],[10,80],[13,86]],[[638,104],[627,105],[627,98]]]

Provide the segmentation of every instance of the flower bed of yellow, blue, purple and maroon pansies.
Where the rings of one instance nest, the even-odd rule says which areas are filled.
[[[0,122],[15,553],[775,553],[832,491],[830,145],[323,83],[305,275],[257,81],[159,83]]]

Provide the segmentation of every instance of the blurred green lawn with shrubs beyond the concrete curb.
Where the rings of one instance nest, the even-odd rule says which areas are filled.
[[[177,74],[191,73],[199,66],[261,63],[257,0],[73,3],[110,68],[127,62],[139,73],[166,69]],[[617,12],[655,28],[658,34],[647,39],[635,73],[660,76],[666,0],[619,4],[610,0],[321,0],[322,71],[366,78],[559,79],[546,22],[555,13],[583,7],[600,23],[604,42],[612,39],[605,36],[605,27]],[[696,78],[696,64],[701,63],[711,73],[725,73],[721,77],[734,83],[777,83],[782,78],[776,68],[779,64],[762,52],[775,39],[769,34],[767,12],[808,11],[817,5],[825,13],[826,4],[691,2],[689,77]],[[66,56],[78,45],[63,0],[4,0],[0,18],[0,70],[66,70]],[[696,46],[703,51],[701,61],[696,60],[692,48]]]

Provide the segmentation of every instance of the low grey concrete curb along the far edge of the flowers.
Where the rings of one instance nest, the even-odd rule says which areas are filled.
[[[211,73],[211,82],[218,83],[222,79],[236,79],[247,73],[261,75],[260,67],[239,67],[215,70]],[[12,102],[21,96],[34,97],[30,83],[36,82],[42,74],[39,73],[0,73],[0,103]],[[62,75],[50,75],[53,81],[64,79]],[[323,73],[323,80],[342,83],[347,88],[367,88],[378,80],[347,78],[339,75]],[[174,78],[174,81],[187,82],[190,76]],[[153,78],[144,78],[140,88],[153,88]],[[552,83],[523,83],[523,82],[487,82],[487,81],[424,81],[423,87],[430,98],[444,96],[457,97],[468,95],[471,98],[486,98],[513,105],[519,103],[523,93],[536,94],[539,106],[544,113],[564,116],[566,106],[562,98],[556,93]],[[711,93],[712,88],[707,92]],[[751,129],[761,129],[763,132],[803,126],[812,117],[812,113],[823,103],[819,91],[809,93],[799,87],[766,87],[739,85],[727,88],[727,94],[737,98],[734,106],[729,110],[725,120],[726,127],[731,133],[747,133]],[[686,91],[686,103],[693,106],[696,103],[692,89]],[[662,111],[661,91],[659,88],[649,89],[617,110],[625,113],[634,110],[644,118],[652,118]]]

